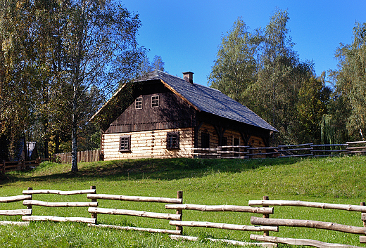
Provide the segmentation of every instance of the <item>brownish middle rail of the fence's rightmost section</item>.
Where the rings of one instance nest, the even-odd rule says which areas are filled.
[[[366,228],[358,226],[346,226],[332,222],[323,221],[309,221],[309,220],[295,220],[286,218],[258,218],[251,217],[252,225],[264,225],[264,226],[291,226],[300,228],[318,228],[325,230],[335,230],[343,233],[354,233],[366,235]]]

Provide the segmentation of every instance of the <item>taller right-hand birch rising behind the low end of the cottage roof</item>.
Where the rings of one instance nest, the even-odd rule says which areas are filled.
[[[279,134],[272,143],[297,143],[296,107],[301,83],[313,75],[313,63],[301,62],[289,37],[287,11],[277,10],[263,35],[258,81],[251,87],[253,110]]]

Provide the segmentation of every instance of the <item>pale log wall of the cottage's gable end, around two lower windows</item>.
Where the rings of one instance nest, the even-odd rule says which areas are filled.
[[[139,158],[172,158],[192,157],[194,128],[165,129],[156,131],[139,131],[127,133],[104,133],[102,135],[102,152],[104,160],[139,159]],[[179,131],[179,149],[168,150],[167,133]],[[120,136],[131,136],[131,151],[120,152]]]

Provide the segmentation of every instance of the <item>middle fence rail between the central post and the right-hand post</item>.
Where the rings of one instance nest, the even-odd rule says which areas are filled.
[[[268,230],[278,232],[278,226],[246,226],[203,221],[169,221],[169,224],[172,226],[191,226],[194,228],[218,228],[226,230],[245,230],[251,232],[263,232]]]

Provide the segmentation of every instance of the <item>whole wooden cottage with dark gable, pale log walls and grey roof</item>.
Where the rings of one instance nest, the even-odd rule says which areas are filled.
[[[194,157],[194,148],[267,147],[277,132],[248,107],[216,89],[155,70],[125,84],[92,117],[105,160]],[[214,149],[212,149],[214,150]]]

